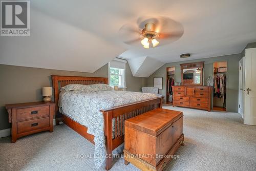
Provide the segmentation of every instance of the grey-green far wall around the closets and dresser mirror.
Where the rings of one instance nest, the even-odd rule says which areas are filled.
[[[213,65],[215,61],[227,61],[227,111],[238,111],[238,80],[239,80],[239,60],[241,54],[225,55],[183,62],[166,63],[154,74],[147,78],[147,86],[154,86],[154,77],[163,77],[163,90],[159,94],[166,96],[166,68],[175,67],[175,81],[181,82],[181,63],[204,61],[204,85],[207,86],[206,78],[213,76]]]

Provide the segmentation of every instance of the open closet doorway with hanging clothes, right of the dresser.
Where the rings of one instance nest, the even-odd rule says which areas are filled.
[[[227,61],[214,62],[214,111],[226,111]]]

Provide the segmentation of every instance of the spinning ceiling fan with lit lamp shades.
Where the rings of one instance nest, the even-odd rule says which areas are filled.
[[[146,49],[176,41],[183,33],[184,28],[180,23],[163,16],[140,17],[137,24],[126,24],[119,29],[125,44],[138,46],[140,42]]]

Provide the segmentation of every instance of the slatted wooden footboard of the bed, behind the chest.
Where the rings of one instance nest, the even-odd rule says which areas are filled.
[[[106,156],[108,156],[108,158],[106,158],[106,170],[109,170],[112,167],[112,151],[124,142],[124,120],[156,108],[162,108],[162,98],[163,97],[158,97],[137,103],[117,106],[115,108],[100,110],[104,117]],[[113,127],[114,135],[112,134]]]

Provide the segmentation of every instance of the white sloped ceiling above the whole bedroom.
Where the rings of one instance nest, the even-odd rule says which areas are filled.
[[[184,34],[152,49],[123,44],[119,28],[141,16],[172,18]],[[31,1],[31,36],[0,37],[0,63],[95,72],[120,56],[135,76],[147,77],[166,62],[241,53],[256,41],[255,16],[255,0]]]

